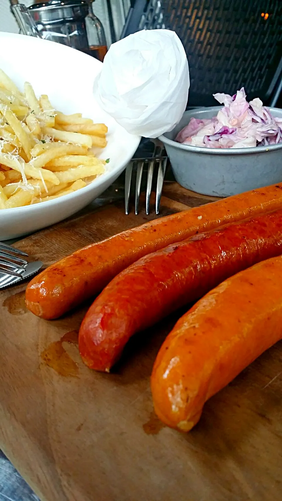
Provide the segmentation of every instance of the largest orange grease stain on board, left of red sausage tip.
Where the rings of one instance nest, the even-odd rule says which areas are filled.
[[[78,377],[78,365],[69,356],[63,343],[78,344],[78,332],[70,331],[63,335],[59,341],[54,341],[41,353],[45,365],[54,369],[60,376]]]

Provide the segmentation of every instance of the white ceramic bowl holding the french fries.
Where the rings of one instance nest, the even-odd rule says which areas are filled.
[[[82,113],[108,126],[108,144],[97,156],[110,159],[105,174],[74,193],[35,205],[1,210],[0,240],[5,240],[61,221],[94,200],[125,168],[140,137],[128,134],[95,102],[93,81],[101,68],[96,59],[61,44],[9,33],[0,33],[0,47],[3,48],[0,68],[20,90],[28,81],[36,95],[48,94],[55,109],[66,114]]]

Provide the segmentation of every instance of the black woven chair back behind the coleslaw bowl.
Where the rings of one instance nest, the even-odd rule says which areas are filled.
[[[248,99],[268,102],[282,70],[281,0],[150,0],[139,29],[157,28],[184,45],[190,106],[211,106],[213,93],[241,86]]]

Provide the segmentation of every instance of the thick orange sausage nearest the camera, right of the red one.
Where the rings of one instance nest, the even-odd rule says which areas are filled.
[[[222,282],[175,325],[151,377],[154,407],[189,431],[204,403],[282,338],[282,257]]]

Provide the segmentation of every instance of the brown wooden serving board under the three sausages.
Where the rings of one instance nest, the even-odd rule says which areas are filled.
[[[160,215],[209,200],[167,184]],[[125,216],[121,202],[87,210],[17,246],[47,266],[154,217]],[[116,371],[101,374],[78,353],[87,305],[47,322],[26,310],[24,291],[0,293],[0,447],[42,500],[281,500],[281,343],[181,434],[155,417],[150,392],[154,359],[180,312],[135,336]]]

